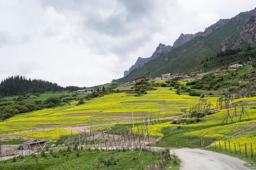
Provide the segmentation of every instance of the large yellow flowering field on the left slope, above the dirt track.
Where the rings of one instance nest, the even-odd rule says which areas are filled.
[[[166,102],[159,104],[158,102]],[[200,97],[189,96],[188,93],[177,95],[174,90],[167,87],[158,87],[155,91],[149,91],[140,97],[128,93],[113,93],[101,98],[85,101],[85,104],[75,106],[66,105],[54,109],[38,110],[29,113],[18,114],[10,119],[0,122],[0,132],[33,129],[37,125],[69,126],[99,122],[111,122],[131,120],[122,114],[154,112],[163,115],[184,114],[188,105],[200,101]],[[183,111],[182,111],[183,110]],[[106,116],[75,116],[81,113],[106,113]],[[119,113],[119,116],[108,116],[107,113]],[[63,117],[73,114],[72,117]]]

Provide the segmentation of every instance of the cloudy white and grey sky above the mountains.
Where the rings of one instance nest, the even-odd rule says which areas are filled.
[[[256,0],[0,0],[0,80],[110,83],[159,43],[254,8]]]

